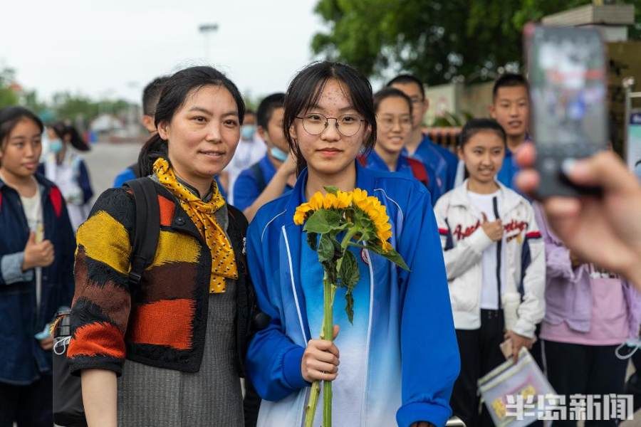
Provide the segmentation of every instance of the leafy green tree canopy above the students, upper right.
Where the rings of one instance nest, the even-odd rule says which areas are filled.
[[[641,0],[629,0],[641,20]],[[494,78],[518,68],[524,23],[590,0],[319,0],[315,12],[328,30],[313,51],[343,60],[366,75],[407,70],[437,85],[459,76]],[[631,28],[639,37],[641,23]]]

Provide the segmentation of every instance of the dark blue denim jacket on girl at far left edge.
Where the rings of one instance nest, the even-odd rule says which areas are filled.
[[[40,310],[33,270],[22,271],[29,228],[18,192],[0,179],[0,382],[24,385],[51,371],[51,352],[34,337],[71,305],[75,237],[58,187],[36,174],[42,197],[44,238],[55,259],[42,269]]]

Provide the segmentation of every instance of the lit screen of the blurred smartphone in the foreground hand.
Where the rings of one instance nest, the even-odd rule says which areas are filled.
[[[528,53],[536,144],[585,152],[605,147],[605,55],[598,31],[536,27]]]

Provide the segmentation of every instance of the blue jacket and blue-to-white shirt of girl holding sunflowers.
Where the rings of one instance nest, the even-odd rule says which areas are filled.
[[[366,327],[365,337],[358,337],[365,342],[363,377],[353,384],[363,393],[354,401],[334,399],[334,417],[340,418],[337,413],[348,405],[350,411],[360,411],[359,426],[407,427],[416,421],[443,426],[451,414],[459,352],[429,192],[400,174],[356,168],[356,186],[385,205],[392,246],[411,273],[368,251],[357,257],[361,277],[355,294],[363,295],[355,295],[354,325],[364,322]],[[318,312],[319,301],[306,301],[309,291],[303,285],[316,270],[320,287],[322,270],[303,246],[303,227],[293,223],[296,207],[305,201],[306,181],[305,170],[291,193],[258,211],[247,233],[259,307],[271,317],[269,326],[251,340],[246,357],[251,381],[264,399],[259,426],[300,426],[308,400],[310,384],[301,374],[301,358],[308,340],[318,337],[320,325],[309,317]],[[364,310],[363,299],[368,302]],[[335,300],[335,317],[340,317],[344,301],[338,293]],[[349,329],[342,329],[338,339],[349,335]],[[339,344],[338,339],[341,354],[353,350],[350,342]],[[339,372],[339,379],[348,374]]]

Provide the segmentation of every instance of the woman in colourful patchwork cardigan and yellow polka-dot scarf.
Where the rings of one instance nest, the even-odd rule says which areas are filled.
[[[244,423],[247,224],[214,181],[234,154],[244,110],[234,83],[214,68],[187,68],[167,81],[157,135],[139,159],[155,181],[160,236],[135,289],[127,282],[130,192],[105,191],[78,229],[67,355],[82,377],[90,426]]]

